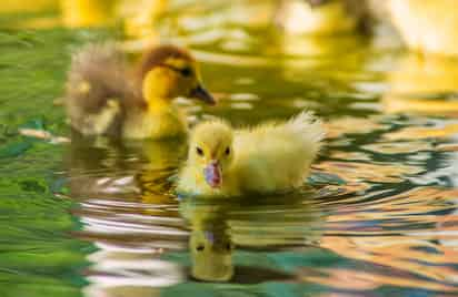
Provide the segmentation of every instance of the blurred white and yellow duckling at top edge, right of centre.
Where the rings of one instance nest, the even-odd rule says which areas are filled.
[[[276,20],[292,34],[333,35],[369,28],[361,0],[281,0]]]

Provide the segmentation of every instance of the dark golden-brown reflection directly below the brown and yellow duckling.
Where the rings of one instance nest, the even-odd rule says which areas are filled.
[[[170,177],[186,158],[181,140],[118,142],[72,136],[67,154],[70,195],[74,198],[136,199],[165,205],[173,202]],[[151,208],[167,216],[169,212]]]

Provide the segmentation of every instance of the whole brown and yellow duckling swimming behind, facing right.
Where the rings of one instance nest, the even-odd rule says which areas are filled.
[[[78,52],[68,74],[66,105],[71,126],[84,135],[165,139],[187,133],[185,113],[173,99],[215,100],[201,83],[193,58],[173,45],[160,45],[141,59],[137,78],[123,54],[110,44]]]

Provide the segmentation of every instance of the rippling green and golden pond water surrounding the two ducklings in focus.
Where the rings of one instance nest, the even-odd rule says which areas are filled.
[[[201,25],[176,32],[166,20],[165,32],[195,50],[220,103],[180,104],[193,121],[217,115],[235,125],[316,111],[329,133],[311,188],[179,201],[170,191],[185,153],[177,143],[20,135],[29,127],[71,136],[58,100],[70,53],[119,32],[14,29],[8,23],[19,17],[8,14],[0,30],[0,296],[457,294],[458,62],[358,38],[319,41],[322,51],[308,52],[309,40],[231,18],[215,29],[199,13],[181,21]],[[192,237],[222,248],[196,256]],[[196,266],[235,275],[198,281]]]

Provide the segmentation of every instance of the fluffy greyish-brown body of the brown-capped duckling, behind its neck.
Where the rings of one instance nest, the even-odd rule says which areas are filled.
[[[127,62],[114,44],[89,44],[72,57],[66,105],[71,125],[82,134],[116,130],[127,98],[135,98],[126,80]]]

